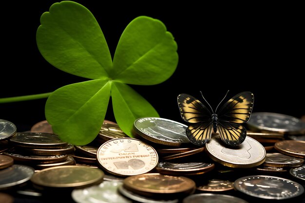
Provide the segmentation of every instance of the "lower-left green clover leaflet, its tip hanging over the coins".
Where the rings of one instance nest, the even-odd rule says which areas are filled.
[[[45,116],[62,141],[86,145],[102,126],[110,91],[111,82],[103,79],[61,87],[49,96]]]

